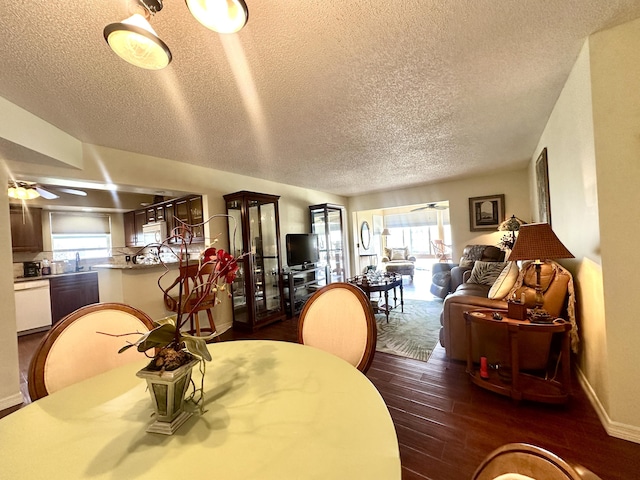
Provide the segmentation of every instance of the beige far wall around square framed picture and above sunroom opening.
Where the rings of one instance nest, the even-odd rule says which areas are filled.
[[[458,259],[465,245],[496,245],[502,238],[502,233],[498,231],[484,233],[472,232],[469,229],[469,198],[501,193],[505,195],[507,217],[515,214],[525,221],[531,219],[529,179],[526,168],[464,180],[359,195],[349,199],[349,211],[359,212],[448,200],[454,247],[453,258]]]

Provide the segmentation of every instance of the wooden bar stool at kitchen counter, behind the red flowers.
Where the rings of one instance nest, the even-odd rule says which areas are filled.
[[[213,307],[216,304],[216,293],[208,291],[205,287],[210,275],[214,275],[215,264],[205,263],[199,265],[183,265],[180,267],[178,277],[167,288],[164,294],[164,304],[172,312],[178,311],[179,294],[176,287],[182,282],[182,313],[191,312],[188,315],[190,335],[202,336],[202,333],[216,333],[216,324],[213,321]],[[209,326],[200,326],[200,312],[205,312]],[[216,337],[216,339],[218,339]]]

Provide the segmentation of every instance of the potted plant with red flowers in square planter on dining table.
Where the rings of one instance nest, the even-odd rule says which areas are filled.
[[[214,215],[204,223],[218,216],[222,215]],[[197,315],[202,302],[210,302],[213,307],[220,303],[219,294],[227,291],[227,285],[235,279],[238,263],[228,252],[210,246],[199,255],[197,263],[189,264],[188,247],[193,238],[193,228],[202,225],[182,223],[174,228],[164,241],[145,246],[157,249],[158,258],[161,258],[159,253],[162,247],[168,249],[178,258],[181,272],[197,265],[196,276],[200,279],[189,291],[185,285],[187,277],[180,275],[177,282],[178,296],[175,299],[176,314],[155,321],[156,327],[153,330],[142,334],[136,342],[128,343],[119,351],[121,353],[136,347],[139,352],[144,352],[152,358],[151,362],[136,374],[146,379],[155,409],[156,420],[147,428],[147,432],[172,435],[192,415],[184,409],[185,401],[195,403],[201,412],[203,409],[205,362],[211,361],[207,342],[213,340],[218,333],[214,331],[208,336],[195,336],[183,331],[183,327],[190,317]],[[213,243],[216,242],[217,238]],[[176,243],[180,245],[179,252],[172,246]],[[158,279],[158,286],[167,297],[168,291],[162,287],[161,280],[169,272],[169,268],[162,260],[160,262],[165,267],[165,272]],[[150,350],[153,350],[153,354],[148,353]],[[191,372],[198,364],[202,380],[200,387],[196,388],[191,380]],[[193,393],[185,400],[191,384]]]

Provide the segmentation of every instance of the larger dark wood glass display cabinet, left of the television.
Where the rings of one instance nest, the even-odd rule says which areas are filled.
[[[286,317],[280,281],[280,220],[276,195],[241,191],[224,195],[229,251],[237,257],[233,326],[254,331]]]

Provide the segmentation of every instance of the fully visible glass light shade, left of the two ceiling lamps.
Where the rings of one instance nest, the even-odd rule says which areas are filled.
[[[171,62],[171,52],[149,22],[136,13],[104,29],[104,38],[123,60],[147,70],[160,70]]]

